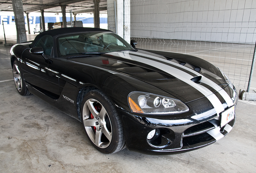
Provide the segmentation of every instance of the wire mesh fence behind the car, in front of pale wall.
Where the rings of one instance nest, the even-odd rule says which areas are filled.
[[[200,57],[223,70],[235,85],[247,87],[256,41],[255,0],[125,0],[126,4],[130,37],[138,42],[137,48]],[[254,81],[251,87],[256,89]]]

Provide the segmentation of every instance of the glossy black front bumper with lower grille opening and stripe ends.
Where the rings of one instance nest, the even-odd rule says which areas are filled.
[[[227,135],[235,124],[234,118],[220,128],[220,118],[217,115],[210,116],[211,119],[207,121],[159,120],[121,112],[126,147],[145,154],[169,155],[200,149]],[[147,135],[153,129],[159,129],[160,135],[150,141]]]

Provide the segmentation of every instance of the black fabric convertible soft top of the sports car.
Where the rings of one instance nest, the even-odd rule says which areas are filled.
[[[51,30],[42,32],[41,34],[38,34],[35,37],[35,40],[30,44],[30,46],[33,47],[33,45],[37,42],[37,40],[44,35],[50,35],[50,36],[54,37],[54,36],[61,35],[61,34],[68,34],[68,33],[74,33],[74,32],[90,32],[90,31],[112,32],[111,30],[105,30],[105,29],[101,29],[101,28],[84,28],[84,27],[51,29]]]

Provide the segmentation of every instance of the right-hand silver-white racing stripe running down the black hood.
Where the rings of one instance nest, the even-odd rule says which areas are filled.
[[[145,56],[145,54],[142,54],[142,53],[139,53],[139,52],[136,52],[136,54],[140,55],[140,56]],[[178,66],[180,68],[183,68],[184,70],[187,70],[189,72],[192,72],[194,73],[196,76],[202,76],[200,73],[196,72],[195,70],[192,70],[186,66],[183,66],[183,65],[180,65],[180,64],[177,64],[175,62],[171,62],[169,60],[165,60],[163,58],[159,58],[157,56],[151,56],[151,55],[148,55],[147,56],[149,58],[154,58],[154,59],[157,59],[157,60],[161,60],[163,62],[167,62],[169,64],[172,64],[174,66]],[[191,78],[190,78],[191,79]],[[216,84],[215,82],[213,82],[212,80],[210,80],[209,78],[206,78],[205,76],[202,76],[200,82],[204,83],[204,84],[207,84],[209,86],[211,86],[213,89],[215,89],[220,95],[221,97],[223,97],[223,99],[225,100],[225,102],[227,103],[228,107],[231,107],[234,105],[233,101],[231,100],[231,98],[229,97],[229,95],[218,85]]]

